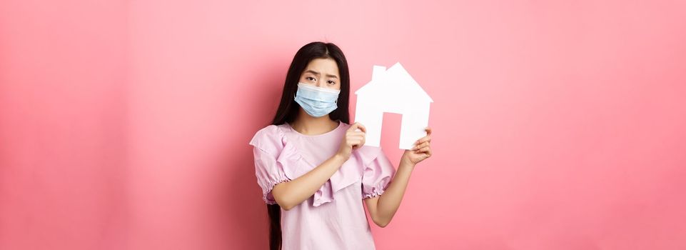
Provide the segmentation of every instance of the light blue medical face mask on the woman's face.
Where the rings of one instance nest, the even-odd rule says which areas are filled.
[[[339,93],[341,93],[339,89],[320,88],[299,82],[295,99],[307,114],[321,117],[338,108],[336,103]]]

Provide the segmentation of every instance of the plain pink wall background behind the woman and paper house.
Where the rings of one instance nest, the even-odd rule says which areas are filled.
[[[248,141],[317,40],[435,101],[378,249],[686,249],[684,1],[246,2],[0,2],[0,249],[266,249]]]

